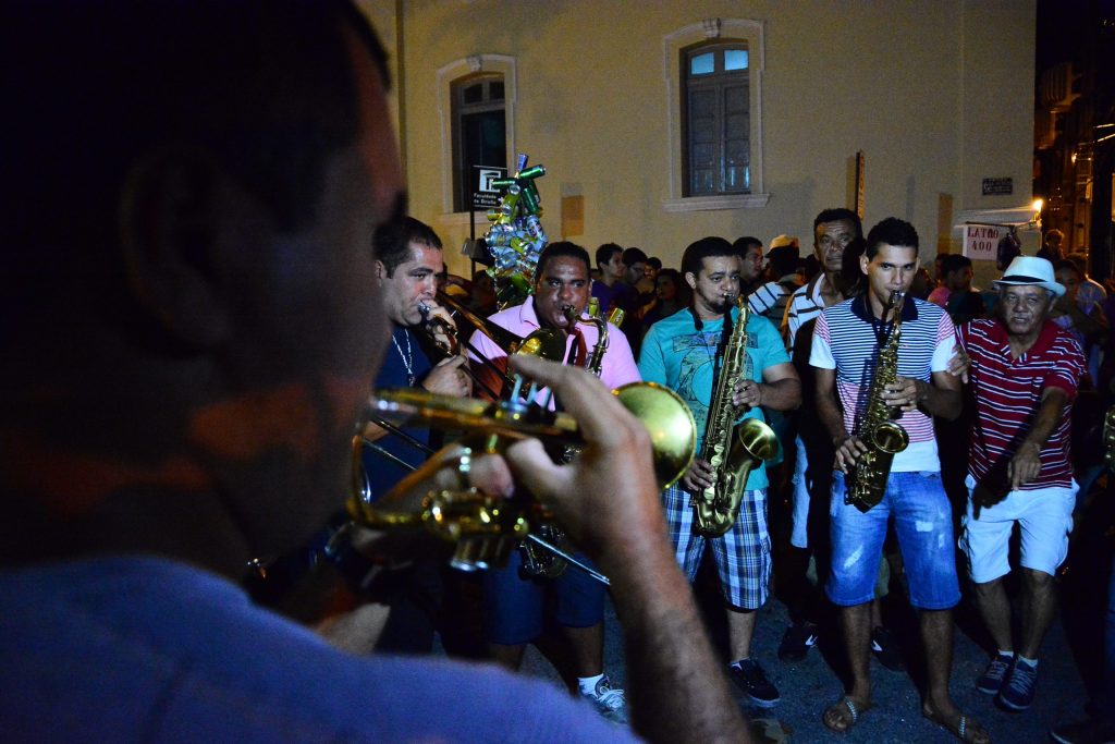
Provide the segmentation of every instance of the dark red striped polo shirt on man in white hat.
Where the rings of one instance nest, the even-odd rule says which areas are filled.
[[[1030,431],[1041,394],[1047,387],[1059,387],[1068,394],[1068,405],[1041,447],[1037,479],[1019,490],[1072,485],[1069,415],[1084,376],[1079,345],[1051,321],[1046,321],[1034,346],[1017,359],[1011,357],[1007,329],[998,319],[973,320],[961,326],[958,335],[971,358],[968,375],[976,397],[968,474],[991,490],[1005,489],[1007,465]]]

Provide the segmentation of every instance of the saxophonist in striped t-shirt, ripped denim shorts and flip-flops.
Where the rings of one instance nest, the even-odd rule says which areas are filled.
[[[809,364],[816,368],[817,413],[836,448],[832,503],[832,569],[828,599],[840,608],[852,688],[824,713],[824,724],[846,732],[872,706],[871,600],[879,574],[888,522],[894,518],[905,559],[910,602],[919,611],[925,646],[928,689],[922,714],[967,742],[986,742],[987,734],[962,715],[949,697],[952,666],[952,612],[960,600],[952,518],[941,484],[940,462],[930,416],[954,418],[960,413],[960,380],[948,363],[956,329],[938,306],[906,296],[901,303],[901,344],[896,369],[879,367],[893,318],[888,303],[894,291],[906,292],[918,269],[918,233],[908,222],[888,218],[867,234],[860,268],[867,291],[827,308],[813,331]],[[886,317],[884,317],[884,312]],[[902,412],[899,424],[909,445],[894,455],[882,501],[861,511],[845,502],[847,476],[869,452],[862,431],[869,392],[876,375],[894,374],[881,392],[882,403]]]

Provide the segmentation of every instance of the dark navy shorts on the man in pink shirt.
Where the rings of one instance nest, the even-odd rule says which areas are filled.
[[[584,555],[579,561],[592,566]],[[521,553],[511,552],[506,568],[484,572],[484,635],[493,644],[517,646],[542,635],[547,593],[554,592],[554,620],[565,628],[591,628],[604,619],[601,582],[568,567],[556,579],[520,576]]]

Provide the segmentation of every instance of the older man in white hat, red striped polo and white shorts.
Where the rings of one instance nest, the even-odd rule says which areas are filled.
[[[1020,255],[992,283],[999,291],[996,318],[959,329],[971,357],[977,413],[960,547],[968,555],[976,605],[998,648],[976,687],[998,695],[1009,709],[1024,711],[1034,702],[1038,647],[1055,611],[1053,578],[1073,529],[1077,486],[1068,458],[1069,414],[1085,363],[1072,336],[1049,320],[1065,293],[1053,264]],[[1018,646],[1002,587],[1016,522],[1022,538]]]

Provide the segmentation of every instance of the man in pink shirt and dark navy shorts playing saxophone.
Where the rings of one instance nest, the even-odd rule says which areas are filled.
[[[598,341],[592,323],[570,323],[566,309],[580,318],[589,303],[589,254],[570,242],[550,243],[539,257],[534,294],[526,302],[488,318],[488,322],[517,336],[540,329],[555,329],[565,336],[568,364],[584,367]],[[505,369],[507,352],[477,330],[469,341],[496,367]],[[486,366],[474,364],[482,379],[494,375]],[[639,368],[631,356],[627,337],[608,326],[608,350],[603,356],[600,379],[609,389],[640,381]],[[489,386],[498,389],[493,380]],[[553,408],[547,389],[535,400]],[[556,403],[561,403],[560,400]],[[586,559],[576,554],[579,560]],[[484,632],[488,649],[502,665],[518,669],[526,644],[543,631],[543,607],[549,588],[558,593],[558,624],[573,651],[573,666],[581,695],[592,702],[610,721],[626,722],[623,690],[612,689],[604,675],[604,584],[583,571],[568,567],[556,579],[521,576],[522,557],[514,551],[507,566],[484,574]]]

